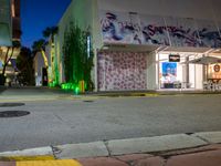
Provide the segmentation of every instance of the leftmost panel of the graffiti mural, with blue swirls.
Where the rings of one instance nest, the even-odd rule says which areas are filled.
[[[104,42],[141,44],[143,33],[137,14],[102,12],[102,31]]]

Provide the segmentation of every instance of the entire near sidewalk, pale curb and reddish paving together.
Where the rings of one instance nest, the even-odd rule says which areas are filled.
[[[0,166],[220,166],[220,143],[207,132],[66,144],[0,153]]]

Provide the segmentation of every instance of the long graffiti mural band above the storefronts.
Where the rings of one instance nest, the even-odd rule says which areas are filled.
[[[105,43],[220,48],[213,21],[101,11]]]

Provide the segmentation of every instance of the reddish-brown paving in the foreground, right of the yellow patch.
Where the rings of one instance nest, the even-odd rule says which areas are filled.
[[[220,166],[221,145],[161,154],[130,154],[77,160],[83,166]]]

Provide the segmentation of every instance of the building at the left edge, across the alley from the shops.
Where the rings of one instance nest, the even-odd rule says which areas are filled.
[[[0,71],[2,72],[3,63],[9,60],[4,73],[8,83],[18,72],[15,59],[20,53],[20,0],[0,0]]]

